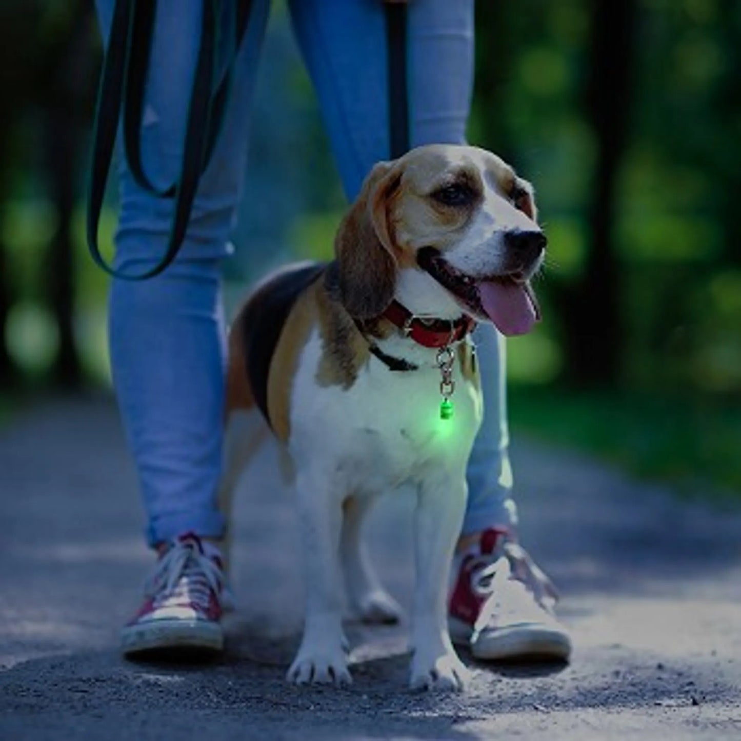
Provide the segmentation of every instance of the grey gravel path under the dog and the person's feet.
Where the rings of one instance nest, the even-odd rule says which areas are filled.
[[[1,740],[741,738],[739,513],[516,441],[522,540],[565,595],[571,665],[472,665],[463,694],[412,694],[404,626],[350,626],[353,686],[293,688],[299,548],[275,462],[239,497],[225,658],[138,665],[117,631],[151,556],[113,407],[53,402],[0,433]],[[402,603],[409,518],[398,497],[370,534]]]

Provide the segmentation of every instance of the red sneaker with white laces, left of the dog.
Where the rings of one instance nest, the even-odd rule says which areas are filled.
[[[222,569],[216,546],[197,535],[187,533],[170,542],[144,586],[142,608],[121,631],[123,653],[163,648],[222,651]]]

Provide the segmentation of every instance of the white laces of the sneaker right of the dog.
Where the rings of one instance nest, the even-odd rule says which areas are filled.
[[[473,626],[475,631],[502,614],[532,614],[535,605],[554,614],[558,600],[554,583],[518,543],[505,541],[496,554],[474,556],[469,568],[471,588],[485,598]]]

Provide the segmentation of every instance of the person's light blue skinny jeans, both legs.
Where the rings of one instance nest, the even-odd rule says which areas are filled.
[[[220,273],[245,171],[250,101],[269,6],[270,0],[253,0],[225,126],[178,259],[162,276],[114,281],[110,290],[113,381],[150,544],[186,531],[219,537],[225,530],[216,497],[225,374]],[[158,6],[142,151],[147,172],[159,185],[179,171],[200,7],[181,0],[160,0]],[[98,0],[98,11],[107,38],[113,0]],[[291,0],[290,13],[351,200],[373,163],[389,156],[382,3]],[[414,0],[409,14],[412,144],[462,143],[473,83],[473,0]],[[172,202],[136,185],[121,159],[115,264],[142,270],[165,249]],[[464,534],[516,524],[503,340],[486,326],[477,330],[476,342],[485,419],[468,465]]]

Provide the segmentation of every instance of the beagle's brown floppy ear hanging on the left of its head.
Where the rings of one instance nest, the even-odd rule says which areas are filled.
[[[400,183],[401,168],[379,162],[337,231],[336,288],[356,319],[378,316],[393,299],[396,258],[388,212]]]

